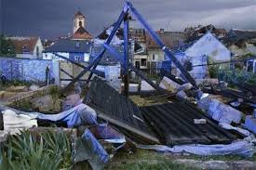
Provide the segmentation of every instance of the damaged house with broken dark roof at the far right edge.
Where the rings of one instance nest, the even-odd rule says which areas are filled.
[[[256,31],[232,29],[223,43],[235,56],[256,55]]]

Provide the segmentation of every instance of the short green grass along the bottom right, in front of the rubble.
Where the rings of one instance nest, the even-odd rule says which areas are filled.
[[[198,169],[188,166],[186,164],[173,163],[177,159],[192,159],[195,161],[256,161],[256,155],[252,158],[244,158],[237,155],[226,156],[197,156],[197,155],[175,155],[158,153],[151,150],[137,150],[135,153],[128,154],[118,152],[111,163],[106,167],[107,170],[111,169],[128,169],[128,170],[143,170],[143,169]]]

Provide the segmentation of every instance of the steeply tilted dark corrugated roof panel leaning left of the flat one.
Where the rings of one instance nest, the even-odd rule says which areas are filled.
[[[97,77],[90,85],[88,105],[98,110],[98,117],[125,130],[125,134],[130,138],[136,140],[144,137],[145,143],[158,143],[155,133],[144,121],[139,107]],[[137,141],[141,143],[141,138]]]

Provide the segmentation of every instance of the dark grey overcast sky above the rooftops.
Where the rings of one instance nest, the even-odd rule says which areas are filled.
[[[115,22],[123,0],[0,0],[0,28],[10,35],[56,38],[72,33],[77,10],[87,18],[88,32],[97,35]],[[256,30],[256,0],[132,0],[155,30],[183,31],[206,25]],[[133,23],[135,27],[138,24]]]

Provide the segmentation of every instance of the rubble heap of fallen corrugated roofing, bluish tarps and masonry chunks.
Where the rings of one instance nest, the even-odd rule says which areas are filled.
[[[216,85],[215,80],[196,82],[198,85],[202,82],[205,86]],[[101,169],[117,150],[124,148],[198,155],[238,154],[250,157],[254,154],[254,136],[239,125],[242,111],[211,98],[201,90],[193,90],[192,85],[184,84],[175,77],[164,76],[160,86],[168,90],[168,94],[175,94],[178,100],[139,107],[95,77],[86,104],[82,103],[79,94],[61,101],[49,95],[33,99],[34,108],[40,108],[39,111],[58,105],[62,110],[58,114],[24,112],[0,105],[2,140],[8,133],[19,133],[20,128],[37,125],[77,128],[73,163],[88,161],[93,169]],[[246,117],[244,124],[251,131],[255,130],[254,120],[255,112],[254,117]]]

